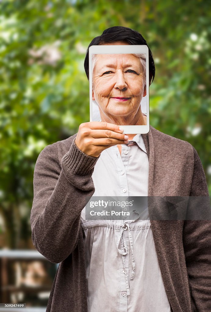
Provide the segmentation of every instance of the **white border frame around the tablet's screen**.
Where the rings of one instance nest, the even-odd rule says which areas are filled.
[[[89,95],[90,95],[90,121],[92,120],[92,54],[146,54],[146,125],[119,125],[125,134],[144,134],[150,131],[150,105],[149,105],[149,49],[146,45],[99,45],[89,47]]]

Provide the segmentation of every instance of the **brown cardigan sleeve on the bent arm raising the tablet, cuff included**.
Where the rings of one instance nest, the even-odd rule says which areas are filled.
[[[77,245],[81,211],[95,188],[91,178],[96,157],[72,142],[61,161],[58,144],[48,145],[37,158],[31,211],[32,242],[52,263],[66,259]]]

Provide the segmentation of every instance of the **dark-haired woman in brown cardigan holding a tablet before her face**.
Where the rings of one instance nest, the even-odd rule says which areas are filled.
[[[130,28],[111,27],[90,45],[125,43],[147,44]],[[149,64],[151,82],[150,50]],[[85,71],[88,77],[87,55]],[[77,134],[48,145],[37,159],[32,241],[49,261],[60,263],[47,311],[209,311],[209,221],[155,221],[150,206],[148,220],[137,216],[135,222],[90,227],[83,218],[95,192],[209,195],[199,156],[188,142],[153,127],[134,137],[122,132],[107,122],[81,124]]]

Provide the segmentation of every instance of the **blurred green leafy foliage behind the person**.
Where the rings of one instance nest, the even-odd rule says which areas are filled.
[[[0,233],[27,247],[33,169],[47,145],[89,120],[83,68],[93,37],[139,31],[153,53],[150,124],[198,151],[211,191],[209,1],[0,1]],[[20,242],[23,245],[20,245]]]

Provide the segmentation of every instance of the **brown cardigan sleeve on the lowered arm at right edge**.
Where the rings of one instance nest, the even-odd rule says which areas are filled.
[[[202,163],[194,150],[190,196],[209,196]],[[211,311],[211,221],[186,220],[183,244],[193,312]]]

